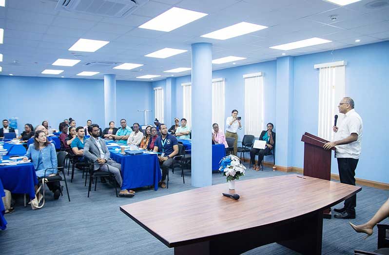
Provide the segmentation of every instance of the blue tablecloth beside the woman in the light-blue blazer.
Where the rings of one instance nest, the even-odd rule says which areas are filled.
[[[11,193],[28,194],[30,199],[35,197],[34,186],[38,184],[38,179],[32,163],[0,166],[0,180],[4,189]]]

